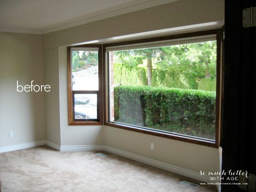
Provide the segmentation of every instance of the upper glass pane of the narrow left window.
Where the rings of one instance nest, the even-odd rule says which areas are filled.
[[[99,90],[98,51],[71,51],[72,90]]]

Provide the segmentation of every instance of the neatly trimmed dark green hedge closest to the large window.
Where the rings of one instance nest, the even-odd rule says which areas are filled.
[[[215,92],[148,86],[114,88],[116,122],[215,139]]]

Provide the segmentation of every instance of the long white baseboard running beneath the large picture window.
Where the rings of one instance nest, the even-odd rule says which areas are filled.
[[[106,146],[106,145],[103,145],[103,150],[111,152],[113,154],[120,155],[122,157],[126,157],[126,158],[131,159],[131,160],[136,160],[136,161],[139,161],[141,163],[145,163],[147,165],[151,165],[151,166],[154,166],[154,167],[157,167],[157,168],[169,171],[169,172],[177,173],[179,175],[190,177],[190,178],[200,180],[200,181],[203,181],[203,182],[212,183],[212,181],[210,180],[209,177],[204,176],[204,175],[200,175],[200,173],[198,173],[198,172],[193,172],[193,171],[190,171],[188,169],[183,169],[183,168],[180,168],[180,167],[177,167],[177,166],[173,166],[173,165],[163,163],[163,162],[160,162],[160,161],[157,161],[157,160],[149,159],[147,157],[143,157],[143,156],[140,156],[140,155],[137,155],[137,154],[132,154],[132,153],[122,151],[122,150],[119,150],[117,148],[112,148],[112,147],[109,147],[109,146]]]

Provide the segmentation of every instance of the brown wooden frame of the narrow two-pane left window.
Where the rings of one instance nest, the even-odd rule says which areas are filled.
[[[102,45],[79,45],[73,47],[96,47],[99,49],[99,90],[72,90],[72,62],[71,62],[71,48],[67,47],[67,79],[68,79],[68,122],[69,125],[103,125],[103,115],[102,115]],[[97,121],[95,120],[84,120],[84,119],[74,119],[74,94],[97,94]]]

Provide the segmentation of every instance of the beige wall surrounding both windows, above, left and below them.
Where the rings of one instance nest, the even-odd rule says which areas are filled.
[[[195,172],[217,172],[216,148],[108,126],[68,126],[65,46],[220,20],[224,20],[224,0],[179,0],[43,35],[45,82],[54,84],[51,95],[46,96],[47,139],[56,144],[61,140],[61,145],[104,144]],[[155,144],[154,151],[150,143]]]

